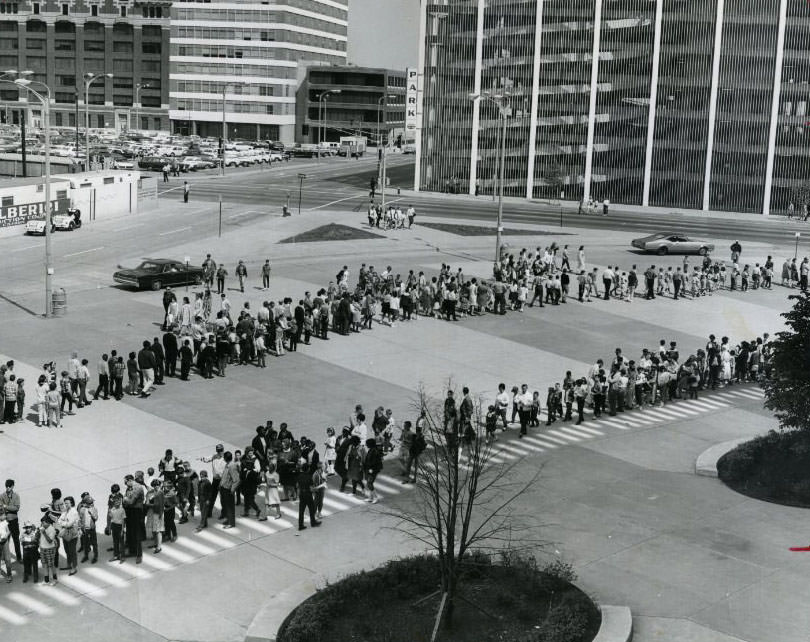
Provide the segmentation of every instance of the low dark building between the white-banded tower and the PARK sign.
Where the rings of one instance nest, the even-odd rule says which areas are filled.
[[[323,96],[323,101],[321,97]],[[298,87],[295,140],[336,142],[366,136],[371,145],[405,126],[405,72],[368,67],[309,67]]]

